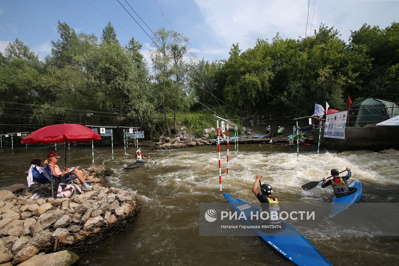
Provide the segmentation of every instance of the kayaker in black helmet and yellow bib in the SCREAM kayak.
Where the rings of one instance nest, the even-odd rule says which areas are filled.
[[[269,212],[269,218],[264,220],[264,222],[269,222],[273,224],[279,224],[281,222],[280,219],[280,207],[279,201],[272,197],[273,189],[269,184],[262,184],[261,186],[261,193],[258,192],[258,183],[262,179],[262,175],[256,175],[255,183],[252,186],[252,192],[257,197],[259,202],[261,202],[262,211]],[[273,215],[273,213],[277,212],[278,214]],[[277,216],[277,217],[273,217]]]

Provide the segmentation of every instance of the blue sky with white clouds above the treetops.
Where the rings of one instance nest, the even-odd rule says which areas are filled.
[[[87,1],[124,28],[111,21],[121,44],[127,44],[132,36],[142,42],[141,52],[147,60],[154,45],[133,18],[150,36],[148,28],[182,33],[191,41],[190,50],[205,60],[225,59],[231,44],[239,43],[244,51],[253,48],[258,38],[271,41],[277,32],[284,39],[305,36],[308,12],[312,16],[307,36],[322,23],[334,26],[345,41],[350,30],[358,30],[364,23],[385,28],[399,22],[399,0],[126,0],[148,28],[125,0],[119,2],[133,18],[118,0],[14,0],[0,2],[0,52],[18,38],[44,58],[51,53],[51,40],[59,38],[58,20],[100,39],[97,29],[102,30],[110,19]]]

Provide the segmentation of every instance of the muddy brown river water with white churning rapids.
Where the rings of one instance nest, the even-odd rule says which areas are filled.
[[[63,156],[63,147],[57,148]],[[225,149],[221,146],[222,169]],[[25,183],[23,172],[30,160],[44,161],[51,151],[54,147],[0,149],[0,187]],[[104,157],[105,164],[115,171],[107,178],[109,186],[136,193],[142,210],[128,231],[104,240],[101,248],[84,254],[82,260],[89,260],[90,265],[293,265],[256,237],[199,236],[199,203],[225,202],[219,192],[216,146],[145,151],[158,164],[126,170],[123,167],[132,163],[134,147],[128,148],[128,155],[123,147],[115,147],[113,161],[111,147],[95,147],[95,156]],[[223,191],[259,204],[251,187],[255,175],[261,173],[280,201],[331,202],[332,190],[318,187],[304,193],[300,185],[328,176],[332,168],[348,166],[353,177],[362,181],[360,202],[399,202],[398,162],[396,150],[317,154],[314,146],[305,146],[300,147],[297,162],[296,149],[284,145],[240,145],[237,155],[231,145],[229,181],[223,173]],[[71,145],[68,166],[88,167],[90,163],[91,147]],[[63,165],[63,157],[59,165]],[[320,236],[308,240],[333,265],[398,265],[398,237]]]

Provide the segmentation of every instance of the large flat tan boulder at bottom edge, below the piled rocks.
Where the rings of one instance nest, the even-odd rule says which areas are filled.
[[[79,260],[79,256],[69,250],[63,250],[50,254],[35,255],[21,266],[69,266]]]

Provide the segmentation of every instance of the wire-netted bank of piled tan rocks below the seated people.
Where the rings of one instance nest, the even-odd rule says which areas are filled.
[[[0,190],[0,264],[48,265],[40,260],[48,260],[49,254],[36,254],[66,249],[83,252],[89,242],[102,242],[131,224],[141,209],[136,197],[129,191],[103,187],[106,169],[87,170],[83,170],[85,180],[93,189],[70,199],[31,200],[32,194],[16,193],[24,184]],[[68,252],[64,252],[66,260],[74,260]]]

